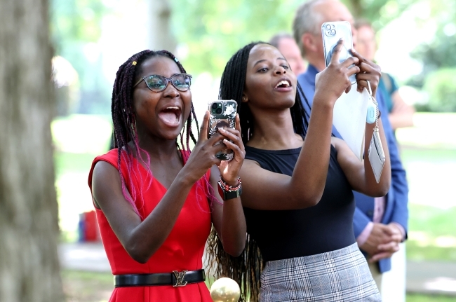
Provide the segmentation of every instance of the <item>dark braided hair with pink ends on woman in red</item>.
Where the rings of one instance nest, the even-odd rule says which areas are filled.
[[[133,84],[138,80],[140,74],[142,73],[142,64],[151,57],[162,56],[168,57],[173,60],[177,67],[179,67],[180,72],[186,74],[184,67],[180,64],[179,60],[167,50],[143,50],[140,53],[136,53],[131,56],[125,63],[119,67],[119,70],[116,73],[116,80],[114,81],[114,88],[112,89],[112,123],[114,126],[114,148],[118,149],[118,160],[117,167],[119,169],[119,174],[122,184],[122,193],[123,196],[128,200],[128,202],[133,206],[136,214],[141,217],[138,207],[135,205],[136,192],[135,186],[133,186],[133,177],[138,177],[140,173],[132,173],[133,165],[133,153],[136,150],[136,155],[138,160],[136,161],[136,170],[139,170],[139,160],[144,163],[145,167],[149,170],[149,186],[152,183],[152,171],[150,171],[150,158],[149,153],[142,150],[139,146],[138,141],[138,132],[136,132],[136,116],[133,108]],[[199,133],[199,125],[196,120],[196,114],[192,102],[192,111],[187,118],[180,137],[177,137],[176,144],[177,149],[184,150],[182,153],[182,159],[184,163],[189,158],[189,140],[192,139],[192,142],[196,144],[195,135],[192,132],[192,121],[196,123],[196,129]],[[179,139],[180,138],[180,139]],[[179,142],[178,142],[179,141]],[[128,144],[133,142],[133,147]],[[135,149],[135,150],[134,150]],[[126,189],[126,177],[123,175],[121,170],[121,160],[124,160],[127,165],[128,179],[130,182],[130,192],[131,197],[128,195]],[[210,185],[208,184],[208,179],[205,175],[206,188],[209,189]],[[144,181],[144,179],[140,179]],[[142,194],[142,191],[140,192]],[[210,198],[210,200],[212,200]]]

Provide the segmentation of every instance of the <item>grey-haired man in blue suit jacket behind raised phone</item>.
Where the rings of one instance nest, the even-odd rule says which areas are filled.
[[[349,22],[352,25],[353,40],[356,43],[353,16],[340,1],[307,1],[297,9],[293,21],[293,36],[297,45],[300,46],[302,55],[309,62],[307,71],[297,77],[297,81],[309,101],[309,105],[304,102],[304,109],[307,113],[310,113],[314,99],[315,76],[326,68],[321,25],[330,21]],[[377,92],[376,97],[380,111],[387,112],[380,92]],[[372,198],[354,192],[356,210],[353,225],[358,246],[367,256],[370,271],[382,292],[382,274],[391,269],[391,256],[398,251],[399,243],[405,240],[407,234],[408,184],[388,116],[382,114],[381,118],[391,160],[391,188],[383,198]],[[335,128],[333,128],[333,133],[340,137]],[[403,275],[403,280],[403,284],[405,284],[405,275]],[[405,287],[402,287],[401,292],[401,295],[405,296]],[[401,301],[401,297],[395,298],[394,301]]]

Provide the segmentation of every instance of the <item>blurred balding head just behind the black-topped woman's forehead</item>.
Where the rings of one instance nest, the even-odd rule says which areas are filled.
[[[306,63],[302,60],[301,50],[297,47],[293,36],[286,33],[276,34],[269,43],[279,49],[296,75],[306,71]]]

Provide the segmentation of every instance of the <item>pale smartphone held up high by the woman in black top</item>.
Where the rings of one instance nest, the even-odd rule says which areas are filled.
[[[323,37],[323,51],[326,67],[331,62],[333,50],[339,39],[344,39],[344,46],[340,52],[339,62],[344,62],[352,55],[349,50],[353,48],[353,36],[351,36],[351,25],[347,21],[325,22],[321,25],[321,36]],[[351,65],[353,67],[354,65]],[[351,68],[349,67],[349,68]],[[356,83],[356,74],[350,76],[351,84]]]

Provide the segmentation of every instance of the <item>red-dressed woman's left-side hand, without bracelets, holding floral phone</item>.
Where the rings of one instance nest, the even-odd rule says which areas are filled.
[[[189,160],[185,164],[182,170],[185,170],[189,181],[192,184],[201,177],[213,165],[220,165],[222,160],[215,157],[215,154],[227,149],[227,146],[223,143],[223,139],[227,138],[221,132],[215,132],[215,135],[208,138],[208,124],[209,124],[209,111],[204,114],[203,123],[201,124],[198,141],[192,153],[190,154]]]

